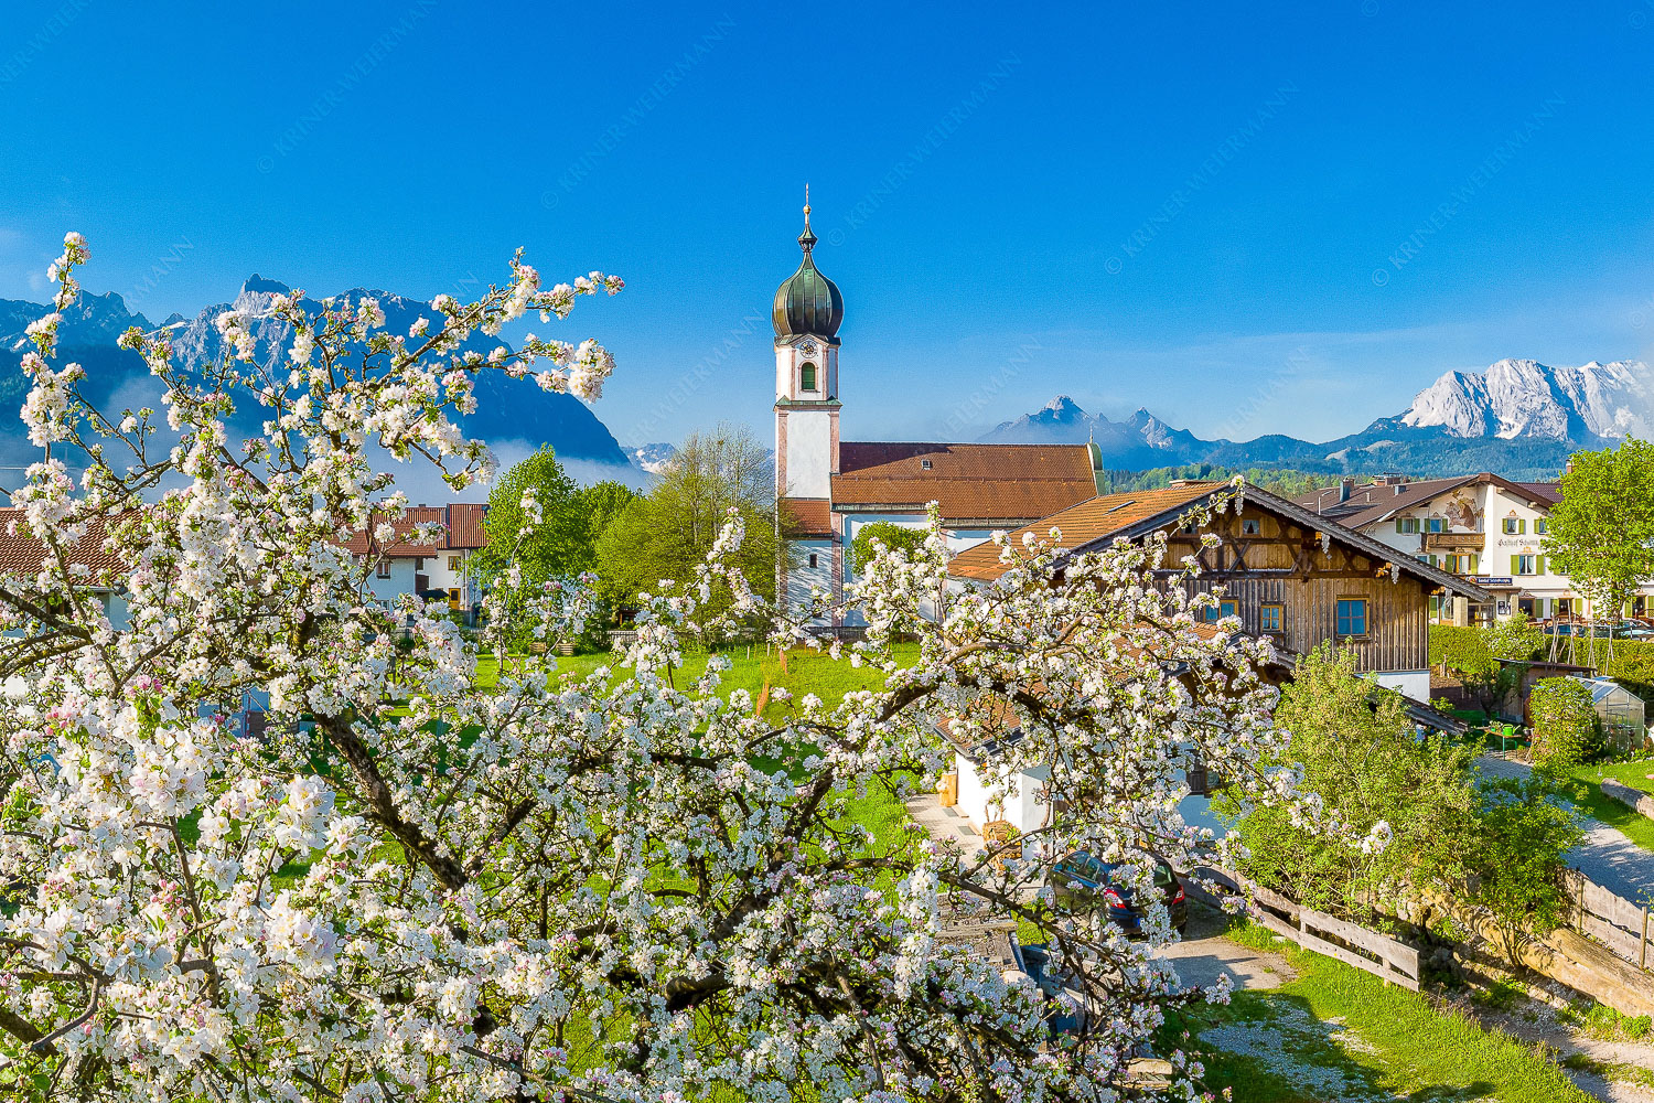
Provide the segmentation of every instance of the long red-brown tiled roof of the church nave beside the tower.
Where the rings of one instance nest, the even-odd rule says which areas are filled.
[[[1087,445],[931,445],[845,442],[832,476],[834,509],[918,511],[943,521],[1016,523],[1097,494]]]

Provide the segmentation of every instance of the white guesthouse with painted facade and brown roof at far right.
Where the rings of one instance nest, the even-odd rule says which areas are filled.
[[[1494,602],[1434,609],[1439,620],[1489,623],[1523,612],[1535,620],[1585,615],[1568,575],[1551,569],[1545,524],[1556,483],[1517,483],[1489,471],[1408,481],[1384,476],[1302,494],[1298,503],[1396,551],[1474,579]],[[1654,612],[1654,584],[1629,610]]]

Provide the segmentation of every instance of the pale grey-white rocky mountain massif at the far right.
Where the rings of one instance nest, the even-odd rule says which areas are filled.
[[[1419,392],[1401,423],[1505,440],[1647,437],[1654,377],[1641,361],[1591,361],[1583,367],[1500,361],[1485,372],[1447,372]]]

